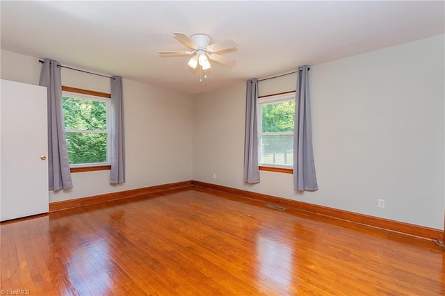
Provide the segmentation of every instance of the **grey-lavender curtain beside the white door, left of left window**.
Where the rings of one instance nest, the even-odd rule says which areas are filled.
[[[49,190],[72,188],[70,162],[68,161],[65,120],[62,106],[60,64],[44,59],[39,85],[48,91],[48,174]]]

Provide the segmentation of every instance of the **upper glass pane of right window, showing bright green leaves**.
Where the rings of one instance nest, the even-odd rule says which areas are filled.
[[[293,131],[295,101],[264,104],[262,108],[263,132]]]

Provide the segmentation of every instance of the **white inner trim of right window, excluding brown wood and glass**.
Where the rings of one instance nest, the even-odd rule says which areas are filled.
[[[276,163],[261,163],[261,137],[262,135],[293,135],[293,131],[282,131],[282,132],[262,132],[263,126],[263,104],[267,103],[281,103],[284,101],[295,101],[296,93],[290,92],[286,94],[277,94],[268,97],[261,97],[257,100],[257,129],[258,129],[258,164],[261,167],[277,167],[277,168],[293,168],[293,165],[280,165]]]

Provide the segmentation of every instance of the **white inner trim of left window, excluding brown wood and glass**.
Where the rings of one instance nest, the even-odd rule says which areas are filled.
[[[62,97],[73,97],[79,99],[88,99],[91,101],[102,101],[106,106],[106,131],[91,131],[78,129],[65,129],[65,132],[74,133],[106,133],[106,162],[104,163],[76,163],[70,164],[70,167],[95,167],[97,165],[111,165],[111,100],[104,97],[97,97],[90,94],[79,94],[78,92],[62,91]]]

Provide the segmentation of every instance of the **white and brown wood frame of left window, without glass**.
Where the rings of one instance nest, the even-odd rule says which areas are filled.
[[[70,86],[62,86],[62,97],[74,97],[79,99],[88,99],[92,101],[102,101],[106,103],[106,131],[83,131],[65,129],[65,133],[83,132],[83,133],[106,133],[106,163],[79,163],[70,164],[70,171],[74,172],[91,172],[98,170],[111,170],[111,94],[106,92],[96,92],[93,90],[83,90],[81,88],[72,88]]]

